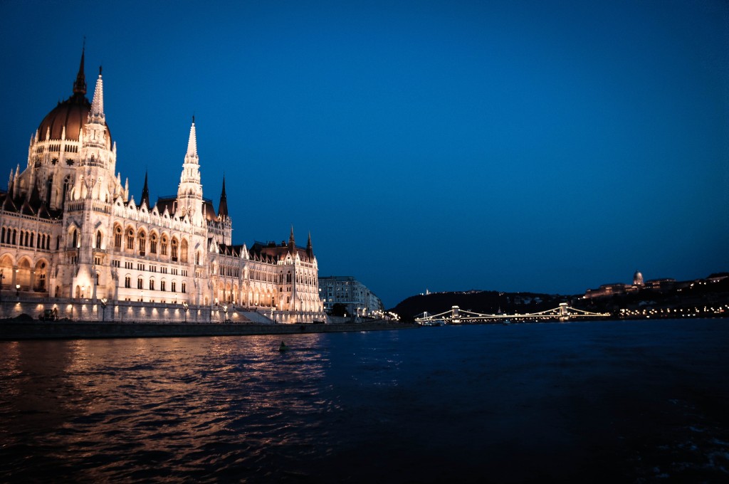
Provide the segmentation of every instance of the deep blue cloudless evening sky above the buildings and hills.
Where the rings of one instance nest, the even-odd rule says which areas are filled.
[[[135,200],[195,114],[233,242],[311,231],[387,307],[729,270],[726,1],[1,1],[2,190],[84,36]]]

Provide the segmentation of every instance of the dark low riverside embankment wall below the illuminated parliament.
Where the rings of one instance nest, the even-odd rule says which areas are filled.
[[[343,324],[236,323],[101,323],[82,321],[0,321],[0,340],[75,339],[101,337],[184,337],[237,335],[292,335],[313,332],[410,329],[414,324],[368,321]]]

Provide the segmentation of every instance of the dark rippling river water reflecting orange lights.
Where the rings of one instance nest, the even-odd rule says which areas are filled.
[[[0,482],[729,480],[729,320],[0,342]]]

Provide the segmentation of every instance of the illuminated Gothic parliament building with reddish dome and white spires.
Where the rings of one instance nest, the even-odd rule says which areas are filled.
[[[82,53],[71,97],[0,192],[0,318],[324,319],[311,235],[305,247],[293,228],[288,241],[235,245],[225,179],[217,213],[203,198],[194,117],[176,197],[152,206],[145,176],[134,200],[116,163],[101,69],[89,102]]]

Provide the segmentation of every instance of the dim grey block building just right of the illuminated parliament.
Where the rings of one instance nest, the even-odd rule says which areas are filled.
[[[332,311],[335,304],[343,304],[355,316],[374,316],[385,309],[380,298],[352,276],[320,277],[319,297],[324,311]]]

